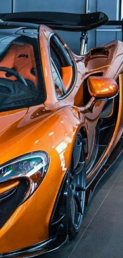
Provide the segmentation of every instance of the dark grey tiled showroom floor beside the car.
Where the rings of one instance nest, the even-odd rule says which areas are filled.
[[[45,257],[123,257],[123,154],[97,185],[77,238]]]

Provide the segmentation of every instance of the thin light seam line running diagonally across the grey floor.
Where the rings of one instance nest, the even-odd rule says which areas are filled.
[[[104,201],[106,200],[107,196],[109,195],[110,191],[112,190],[113,186],[115,185],[115,183],[117,182],[118,178],[120,177],[121,173],[123,172],[123,169],[121,170],[120,174],[118,175],[118,177],[115,179],[114,184],[111,186],[109,192],[107,193],[107,195],[105,196],[104,200],[102,201],[102,203],[99,205],[99,208],[97,209],[96,213],[94,214],[94,216],[92,217],[92,219],[90,220],[88,226],[85,228],[84,232],[82,233],[80,239],[78,240],[77,244],[75,245],[74,249],[72,250],[72,252],[70,253],[70,255],[67,258],[70,258],[72,253],[74,252],[75,248],[77,247],[78,243],[80,242],[82,236],[85,234],[85,232],[87,231],[87,229],[89,228],[90,224],[92,223],[92,220],[95,218],[97,212],[99,211],[99,209],[101,208],[102,204],[104,203]]]

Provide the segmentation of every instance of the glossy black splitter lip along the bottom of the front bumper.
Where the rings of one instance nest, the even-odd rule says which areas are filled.
[[[34,244],[30,247],[18,249],[13,252],[7,252],[0,254],[0,258],[31,258],[31,257],[37,257],[44,253],[51,252],[53,250],[58,249],[61,247],[66,241],[68,236],[54,236],[50,237],[49,239],[40,242],[38,244]]]

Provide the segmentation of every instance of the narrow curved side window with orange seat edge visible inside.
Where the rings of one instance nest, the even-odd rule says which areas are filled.
[[[71,88],[73,83],[73,60],[63,44],[55,35],[53,35],[50,39],[50,56],[53,65],[52,70],[56,70],[57,76],[62,84],[60,88],[58,85],[56,88],[55,85],[55,89],[57,89],[56,95],[57,97],[62,97],[63,94],[65,94]]]

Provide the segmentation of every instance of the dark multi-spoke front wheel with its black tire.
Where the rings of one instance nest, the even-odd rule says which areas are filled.
[[[79,232],[82,224],[85,207],[86,170],[83,139],[78,133],[72,158],[69,174],[68,189],[68,234],[73,239]]]

